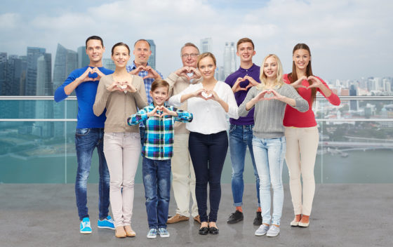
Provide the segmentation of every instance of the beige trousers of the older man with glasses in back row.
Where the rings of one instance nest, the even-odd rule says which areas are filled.
[[[195,198],[195,173],[188,150],[189,133],[175,134],[173,141],[172,186],[178,206],[176,213],[189,217],[189,194],[192,196],[191,215],[198,215]]]

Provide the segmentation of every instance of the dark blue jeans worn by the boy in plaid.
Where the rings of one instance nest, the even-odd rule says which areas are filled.
[[[166,228],[171,197],[171,159],[159,161],[143,157],[142,176],[149,229]]]

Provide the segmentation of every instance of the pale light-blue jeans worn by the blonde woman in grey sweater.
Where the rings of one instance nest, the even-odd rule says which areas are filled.
[[[253,137],[255,162],[260,177],[260,196],[262,199],[262,223],[280,225],[284,203],[282,168],[286,153],[285,136],[281,138]],[[273,188],[273,215],[270,216],[270,184]]]

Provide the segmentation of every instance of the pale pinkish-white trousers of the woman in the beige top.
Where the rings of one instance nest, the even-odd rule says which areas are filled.
[[[139,133],[105,133],[104,154],[110,175],[109,199],[114,226],[131,225],[135,173],[140,156]]]

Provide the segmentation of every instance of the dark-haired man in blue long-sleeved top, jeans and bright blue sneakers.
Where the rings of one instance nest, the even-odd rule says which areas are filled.
[[[90,234],[91,225],[87,208],[87,180],[90,173],[91,157],[97,147],[99,156],[99,220],[98,228],[114,229],[112,218],[109,213],[109,171],[103,152],[103,137],[105,111],[100,116],[93,113],[95,94],[101,76],[112,74],[113,71],[102,67],[102,53],[105,52],[104,43],[99,36],[90,36],[86,39],[86,54],[90,63],[86,67],[75,69],[65,82],[55,91],[55,101],[59,102],[68,97],[73,91],[78,100],[78,123],[75,133],[76,159],[78,170],[76,171],[75,196],[78,207],[79,232]]]

